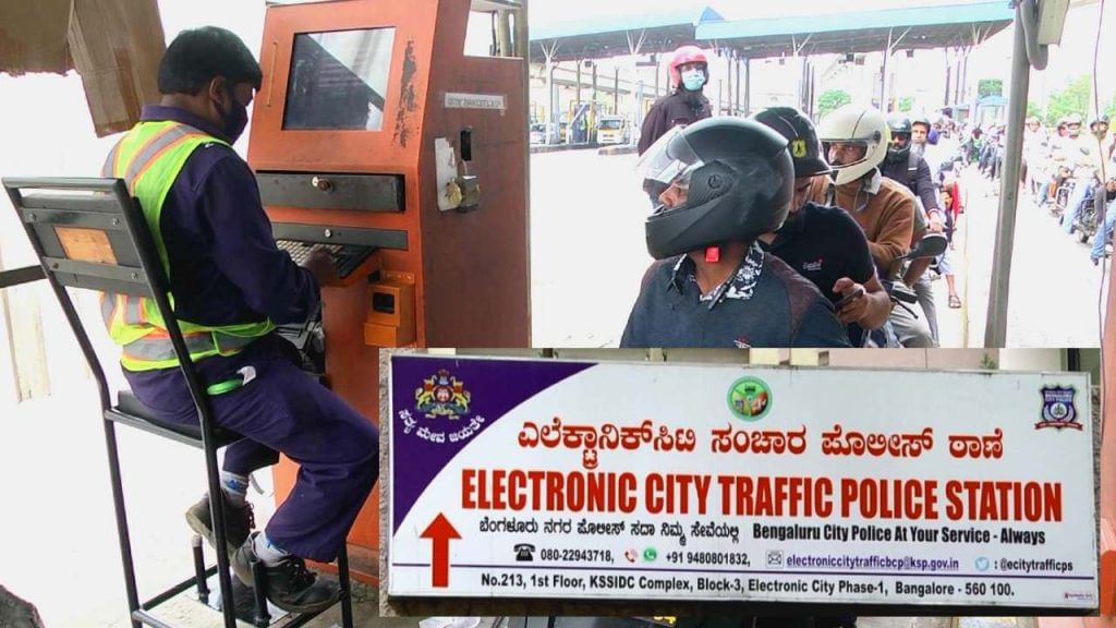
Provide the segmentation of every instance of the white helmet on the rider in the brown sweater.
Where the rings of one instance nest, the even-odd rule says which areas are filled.
[[[856,181],[883,163],[892,134],[887,130],[887,120],[878,110],[845,105],[821,121],[818,125],[818,139],[821,140],[827,158],[829,146],[834,143],[865,146],[864,156],[852,163],[838,164],[830,160],[834,181],[841,185]]]

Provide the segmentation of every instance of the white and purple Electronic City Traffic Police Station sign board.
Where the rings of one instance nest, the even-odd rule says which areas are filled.
[[[388,594],[1096,608],[1088,387],[395,355]]]

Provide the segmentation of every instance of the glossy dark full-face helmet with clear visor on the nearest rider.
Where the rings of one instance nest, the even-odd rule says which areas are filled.
[[[751,121],[710,117],[675,126],[639,159],[654,211],[647,251],[663,259],[729,241],[751,241],[782,226],[795,192],[787,140]],[[685,202],[665,207],[660,192],[686,189]]]

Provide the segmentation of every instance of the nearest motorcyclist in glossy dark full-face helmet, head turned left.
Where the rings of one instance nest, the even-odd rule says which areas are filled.
[[[675,127],[639,160],[653,203],[620,346],[848,346],[833,305],[756,239],[790,210],[787,140],[735,117]]]

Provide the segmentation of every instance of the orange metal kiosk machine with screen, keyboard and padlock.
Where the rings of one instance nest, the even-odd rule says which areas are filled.
[[[530,345],[526,61],[464,54],[471,9],[514,6],[267,10],[248,161],[279,245],[296,258],[334,251],[343,277],[321,289],[326,374],[371,420],[381,348]],[[510,19],[494,17],[507,44]],[[280,495],[296,473],[278,467]],[[374,494],[349,535],[366,579],[377,505]]]

